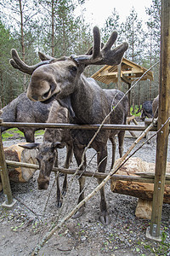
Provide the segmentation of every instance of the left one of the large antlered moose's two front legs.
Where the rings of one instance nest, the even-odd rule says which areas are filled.
[[[82,162],[82,153],[83,153],[84,148],[74,148],[74,154],[75,154],[75,158],[77,160],[77,165],[80,166],[81,162]],[[84,157],[84,162],[82,164],[82,167],[80,168],[80,170],[83,172],[86,168],[86,156]],[[79,198],[78,198],[78,203],[81,202],[84,199],[84,183],[85,183],[85,177],[81,176],[78,179],[79,182]],[[84,205],[74,214],[74,216],[72,218],[78,218],[82,215],[82,213],[84,212]]]

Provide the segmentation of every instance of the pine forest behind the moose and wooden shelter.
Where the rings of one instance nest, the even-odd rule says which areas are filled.
[[[0,0],[0,108],[26,91],[30,76],[20,73],[9,64],[11,49],[17,49],[28,65],[37,63],[38,51],[51,56],[82,55],[93,44],[93,27],[85,20],[83,5],[86,0]],[[77,15],[77,7],[82,14]],[[160,58],[161,0],[152,0],[145,9],[148,19],[139,20],[133,8],[124,22],[116,9],[105,20],[101,32],[106,42],[116,30],[116,45],[127,42],[129,48],[124,57],[145,68],[150,68]],[[87,67],[85,75],[90,77],[99,66]],[[141,81],[132,91],[132,103],[140,105],[153,100],[158,94],[159,65],[152,69],[154,81]],[[103,88],[116,88],[116,84],[102,84]],[[122,83],[123,92],[127,84]]]

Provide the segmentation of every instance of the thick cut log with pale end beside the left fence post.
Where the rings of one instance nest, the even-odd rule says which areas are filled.
[[[14,160],[18,162],[37,164],[37,149],[22,148],[19,146],[21,144],[23,145],[26,143],[19,143],[4,148],[5,160]],[[8,166],[8,177],[10,181],[14,181],[15,183],[26,183],[31,179],[35,171],[35,169],[26,168],[23,166]]]

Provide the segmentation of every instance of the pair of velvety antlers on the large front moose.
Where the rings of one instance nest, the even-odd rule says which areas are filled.
[[[88,65],[118,65],[122,61],[122,56],[124,52],[128,48],[127,43],[123,43],[116,47],[115,49],[111,49],[111,46],[115,43],[117,38],[117,32],[112,32],[111,37],[109,38],[108,42],[105,46],[100,49],[100,33],[99,28],[94,26],[94,47],[93,50],[88,50],[86,55],[71,55],[71,59],[76,61],[78,64],[83,64],[84,67]],[[16,49],[11,50],[12,59],[9,61],[10,64],[14,67],[19,69],[23,73],[32,74],[37,67],[40,67],[45,64],[50,64],[53,61],[64,61],[65,58],[55,59],[53,57],[49,57],[47,55],[42,55],[38,53],[40,59],[42,61],[38,62],[36,65],[28,66],[24,61],[21,61],[20,56],[18,55]]]

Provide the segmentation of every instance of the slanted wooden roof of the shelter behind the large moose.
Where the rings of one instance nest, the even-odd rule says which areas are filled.
[[[121,78],[127,84],[131,84],[134,79],[141,77],[146,70],[146,68],[137,65],[133,61],[128,61],[125,58],[122,59]],[[118,78],[117,66],[105,65],[98,72],[94,73],[92,78],[105,84],[116,83]],[[153,80],[153,73],[151,71],[146,73],[141,80],[146,79]]]

